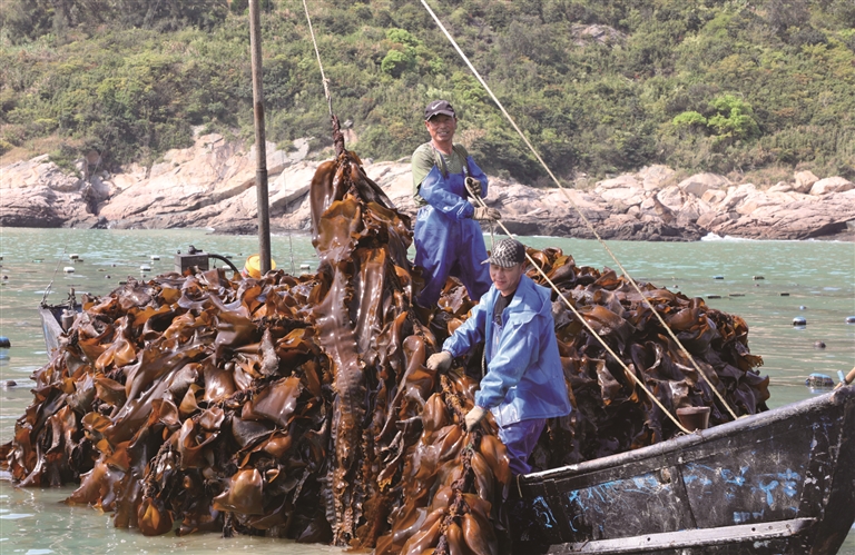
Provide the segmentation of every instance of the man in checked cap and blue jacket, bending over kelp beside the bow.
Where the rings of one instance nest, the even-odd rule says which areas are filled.
[[[528,458],[546,419],[571,410],[550,293],[524,275],[525,247],[514,239],[497,242],[484,264],[493,286],[425,366],[445,371],[454,357],[484,341],[487,374],[466,414],[466,429],[474,429],[490,410],[508,447],[511,472],[528,474]]]

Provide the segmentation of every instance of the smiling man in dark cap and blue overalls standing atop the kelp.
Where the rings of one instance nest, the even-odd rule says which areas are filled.
[[[424,127],[430,142],[413,152],[413,194],[419,212],[415,218],[415,264],[424,276],[419,304],[435,305],[449,275],[458,277],[472,300],[490,288],[490,272],[479,262],[487,258],[481,226],[474,220],[499,219],[494,208],[473,206],[466,185],[476,196],[487,197],[487,176],[454,145],[458,117],[445,100],[434,100],[424,109]]]

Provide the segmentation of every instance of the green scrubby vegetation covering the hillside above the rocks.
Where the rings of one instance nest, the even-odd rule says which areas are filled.
[[[193,128],[253,138],[247,0],[0,3],[0,155],[50,139],[148,163]],[[297,0],[262,2],[267,136],[330,145]],[[445,0],[434,10],[553,171],[810,168],[855,177],[852,0]],[[426,139],[445,98],[493,175],[544,172],[417,1],[312,1],[363,157]],[[57,146],[58,145],[58,146]]]

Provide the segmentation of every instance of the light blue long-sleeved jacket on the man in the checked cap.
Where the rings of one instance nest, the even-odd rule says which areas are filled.
[[[442,349],[458,357],[487,338],[488,371],[475,404],[489,408],[499,426],[570,414],[549,290],[522,276],[513,300],[502,313],[494,349],[492,315],[499,295],[495,286],[490,287]]]

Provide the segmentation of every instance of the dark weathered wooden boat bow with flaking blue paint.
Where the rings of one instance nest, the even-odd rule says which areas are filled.
[[[837,553],[855,522],[855,386],[520,478],[513,553]]]

